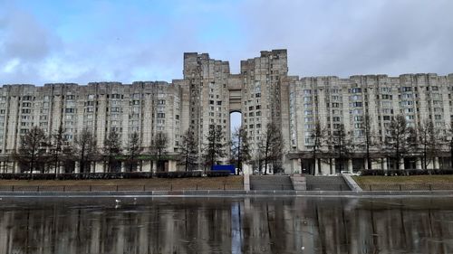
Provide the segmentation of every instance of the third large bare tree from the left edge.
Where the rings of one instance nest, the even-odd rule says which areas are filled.
[[[85,173],[87,169],[90,170],[90,163],[98,155],[96,139],[92,135],[91,130],[83,128],[82,132],[78,136],[75,136],[73,152],[79,162],[80,173]]]

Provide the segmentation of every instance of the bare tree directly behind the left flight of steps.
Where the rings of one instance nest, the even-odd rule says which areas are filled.
[[[263,137],[259,149],[265,164],[265,174],[267,174],[267,165],[272,163],[278,166],[281,163],[284,140],[282,130],[273,122],[267,124]]]

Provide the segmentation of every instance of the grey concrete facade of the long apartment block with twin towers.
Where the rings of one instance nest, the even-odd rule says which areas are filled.
[[[123,146],[131,133],[138,132],[144,153],[149,151],[156,134],[163,132],[169,138],[166,153],[176,158],[181,136],[188,129],[197,136],[200,155],[210,125],[221,127],[228,141],[230,113],[238,111],[255,151],[268,122],[281,128],[284,170],[293,173],[305,166],[313,167],[309,157],[313,148],[310,133],[316,121],[327,132],[343,124],[353,141],[361,143],[365,114],[370,116],[373,138],[380,142],[390,120],[398,114],[405,116],[410,127],[418,127],[428,119],[442,132],[447,131],[453,118],[453,74],[299,79],[288,76],[286,50],[264,51],[259,57],[241,61],[238,74],[230,73],[228,61],[210,59],[207,53],[187,52],[183,74],[182,80],[171,83],[4,85],[0,88],[0,172],[17,170],[11,155],[18,148],[20,136],[33,126],[42,127],[47,134],[62,126],[68,140],[87,127],[98,145],[103,144],[112,128],[120,132]],[[344,162],[342,170],[368,167],[362,151],[355,152]],[[446,157],[432,158],[429,166],[445,167]],[[227,158],[222,161],[227,163]],[[323,157],[316,164],[320,170],[314,174],[338,171],[335,158]],[[390,160],[373,158],[371,165],[373,169],[385,170],[390,168]],[[413,161],[400,166],[411,165],[419,168],[419,157],[415,155]],[[99,172],[101,167],[93,164],[92,171]],[[140,169],[149,171],[154,167],[144,162]],[[177,169],[178,164],[170,159],[167,170]]]

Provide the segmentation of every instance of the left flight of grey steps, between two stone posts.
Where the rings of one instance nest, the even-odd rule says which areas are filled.
[[[250,175],[250,190],[287,191],[294,187],[288,175]]]

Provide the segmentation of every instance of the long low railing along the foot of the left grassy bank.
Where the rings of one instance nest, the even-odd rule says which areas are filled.
[[[244,190],[242,184],[217,183],[162,185],[0,185],[0,192],[13,193],[98,193],[98,192],[150,192],[150,191],[210,191]]]

